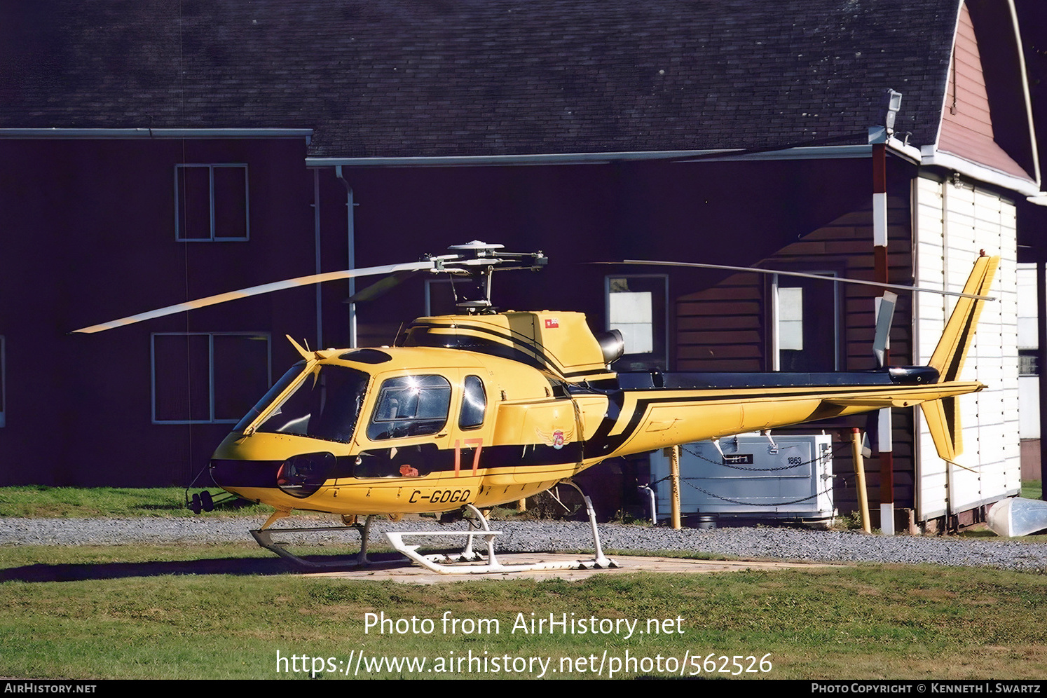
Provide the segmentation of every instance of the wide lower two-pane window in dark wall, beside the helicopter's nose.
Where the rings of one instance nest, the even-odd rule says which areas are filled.
[[[153,422],[235,424],[271,383],[264,333],[156,333]]]

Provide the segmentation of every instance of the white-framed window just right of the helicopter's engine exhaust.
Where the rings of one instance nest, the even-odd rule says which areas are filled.
[[[668,367],[668,277],[665,275],[607,276],[604,279],[607,329],[625,340],[622,368]]]

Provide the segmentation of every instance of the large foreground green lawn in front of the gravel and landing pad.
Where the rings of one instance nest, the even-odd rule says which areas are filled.
[[[220,564],[232,571],[210,571]],[[255,564],[265,567],[252,568]],[[755,657],[757,669],[766,656],[771,670],[743,674],[748,677],[1047,674],[1045,575],[861,565],[407,585],[280,573],[279,562],[246,544],[5,547],[0,567],[0,579],[6,580],[0,583],[0,675],[12,677],[305,678],[307,672],[291,671],[290,662],[286,669],[279,665],[277,653],[299,657],[299,669],[300,657],[308,656],[310,667],[317,657],[324,669],[342,670],[360,652],[369,659],[425,658],[429,670],[437,669],[361,674],[369,678],[534,678],[540,673],[537,663],[520,672],[484,673],[475,663],[471,673],[439,671],[438,661],[448,669],[470,652],[486,657],[489,670],[493,657],[525,662],[540,657],[557,670],[563,660],[563,673],[547,671],[560,678],[594,677],[576,668],[581,657],[586,662],[594,657],[597,665],[604,660],[603,677],[609,659],[630,657],[634,667],[618,667],[626,677],[666,675],[670,667],[678,674],[681,666],[685,675],[699,670],[705,675],[706,669],[725,663],[737,671],[731,663],[735,655],[747,668],[748,657]],[[417,618],[420,632],[367,629],[369,613],[408,625]],[[460,621],[458,632],[444,632],[445,613]],[[647,629],[648,618],[670,620],[671,632],[626,637],[624,626],[618,634],[513,632],[517,618],[550,614],[639,620],[638,630]],[[682,633],[675,632],[677,617]],[[490,625],[463,632],[461,622],[467,620]],[[422,632],[423,621],[432,622],[431,632]],[[649,672],[640,663],[645,658],[652,662]]]

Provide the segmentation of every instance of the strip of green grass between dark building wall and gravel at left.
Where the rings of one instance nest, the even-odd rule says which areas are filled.
[[[211,488],[211,492],[221,490]],[[243,500],[238,502],[244,505],[222,506],[201,516],[260,516],[272,512],[272,509],[265,504],[248,504]],[[24,486],[0,488],[0,516],[73,518],[194,516],[194,514],[185,508],[185,490],[182,488]]]

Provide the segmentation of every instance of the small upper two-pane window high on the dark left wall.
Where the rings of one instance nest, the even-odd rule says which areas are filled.
[[[175,165],[175,239],[245,241],[250,237],[247,165]]]

